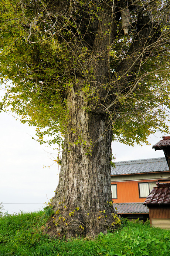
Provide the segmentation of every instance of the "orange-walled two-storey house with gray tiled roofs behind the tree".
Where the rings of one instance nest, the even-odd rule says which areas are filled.
[[[149,219],[149,209],[143,204],[162,177],[170,178],[166,158],[122,161],[111,169],[113,207],[128,219]]]

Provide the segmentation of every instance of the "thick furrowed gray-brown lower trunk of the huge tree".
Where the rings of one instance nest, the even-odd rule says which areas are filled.
[[[112,129],[106,114],[82,108],[82,96],[69,92],[68,105],[70,128],[48,233],[94,237],[115,227],[110,188]]]

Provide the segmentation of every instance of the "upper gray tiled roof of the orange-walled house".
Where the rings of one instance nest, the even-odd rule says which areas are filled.
[[[115,166],[111,168],[111,175],[169,171],[165,157],[115,162]]]

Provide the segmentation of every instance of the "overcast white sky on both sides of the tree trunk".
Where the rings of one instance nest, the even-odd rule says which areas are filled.
[[[37,211],[45,206],[47,197],[54,196],[58,165],[43,167],[53,163],[50,153],[57,152],[32,140],[34,135],[35,128],[21,124],[7,113],[0,113],[0,202],[3,202],[4,212]],[[112,153],[116,161],[164,157],[162,150],[152,149],[161,138],[160,133],[152,135],[151,145],[143,147],[113,142]]]

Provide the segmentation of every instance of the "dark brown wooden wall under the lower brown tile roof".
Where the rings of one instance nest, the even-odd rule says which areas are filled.
[[[170,219],[170,208],[150,208],[149,209],[150,225],[152,226],[152,219]]]

